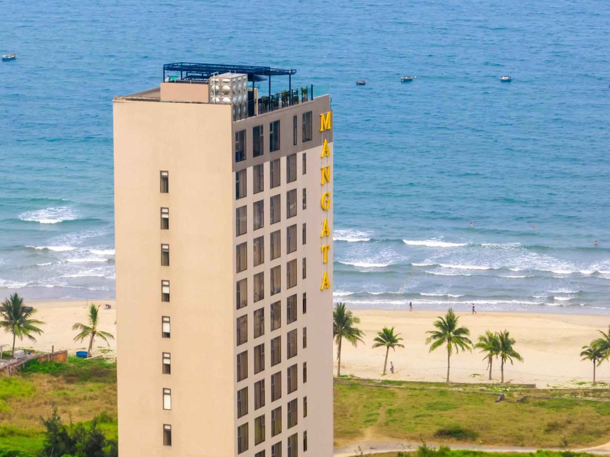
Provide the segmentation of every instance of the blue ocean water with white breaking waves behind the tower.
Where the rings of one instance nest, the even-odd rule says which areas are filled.
[[[0,298],[113,296],[111,99],[185,61],[329,85],[337,300],[610,311],[606,2],[0,7]]]

